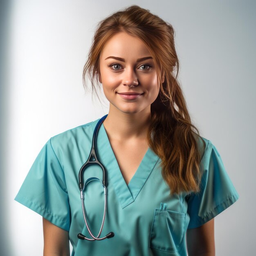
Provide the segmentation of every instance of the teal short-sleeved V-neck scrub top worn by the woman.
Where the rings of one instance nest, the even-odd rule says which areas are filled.
[[[211,141],[204,139],[200,193],[170,195],[161,173],[161,159],[148,148],[127,185],[103,124],[99,128],[99,159],[108,177],[106,219],[99,241],[80,240],[86,228],[81,207],[79,171],[92,146],[99,119],[51,137],[36,157],[15,200],[69,232],[72,256],[186,256],[186,230],[200,227],[238,200],[239,195]],[[89,166],[84,181],[102,180],[99,166]],[[104,190],[93,180],[84,191],[88,225],[97,236],[104,210]]]

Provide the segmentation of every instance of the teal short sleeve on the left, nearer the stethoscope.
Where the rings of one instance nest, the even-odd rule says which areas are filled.
[[[69,231],[70,206],[65,175],[51,139],[40,150],[15,200]]]

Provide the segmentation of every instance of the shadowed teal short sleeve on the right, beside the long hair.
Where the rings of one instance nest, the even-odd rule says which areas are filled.
[[[239,198],[218,150],[209,140],[201,162],[203,175],[200,192],[193,192],[186,199],[190,217],[188,229],[200,227]]]

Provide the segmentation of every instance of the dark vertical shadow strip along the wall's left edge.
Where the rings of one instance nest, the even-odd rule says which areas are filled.
[[[9,42],[9,22],[10,22],[10,10],[12,1],[0,1],[0,250],[1,255],[13,256],[12,244],[15,243],[15,239],[11,241],[10,230],[8,223],[11,220],[8,219],[8,203],[7,197],[7,145],[8,145],[8,130],[9,127],[9,86],[7,79],[7,71],[9,66],[8,58],[8,42]]]

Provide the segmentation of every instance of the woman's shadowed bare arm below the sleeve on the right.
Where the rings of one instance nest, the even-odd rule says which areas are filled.
[[[214,218],[195,229],[187,229],[186,244],[189,256],[215,256]]]

